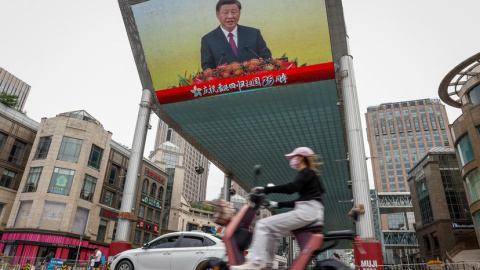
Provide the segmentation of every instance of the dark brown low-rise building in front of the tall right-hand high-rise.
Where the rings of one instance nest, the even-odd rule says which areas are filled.
[[[455,150],[434,147],[409,172],[415,232],[423,261],[478,248]]]

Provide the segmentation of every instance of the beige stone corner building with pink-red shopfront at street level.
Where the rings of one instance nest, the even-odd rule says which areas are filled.
[[[7,116],[2,115],[3,119]],[[22,130],[27,120],[16,118],[18,127],[9,130]],[[9,123],[2,121],[1,129]],[[11,211],[5,215],[0,253],[13,256],[13,263],[20,265],[28,259],[32,265],[39,265],[50,251],[55,258],[67,261],[86,260],[96,247],[108,256],[120,212],[129,149],[113,141],[112,133],[85,111],[43,118],[29,132],[34,138],[32,151],[24,158],[13,155],[25,161],[24,173],[9,180],[14,183],[9,186],[12,195],[2,196],[2,200],[11,200],[5,202],[11,205]],[[14,135],[20,136],[11,132],[5,149],[15,148]],[[7,163],[15,160],[7,159]],[[143,160],[133,209],[137,223],[132,226],[130,241],[134,247],[161,233],[166,179],[165,172]]]

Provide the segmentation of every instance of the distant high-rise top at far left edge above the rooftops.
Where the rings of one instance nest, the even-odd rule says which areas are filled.
[[[0,93],[18,96],[15,109],[23,111],[30,93],[30,85],[0,67]]]

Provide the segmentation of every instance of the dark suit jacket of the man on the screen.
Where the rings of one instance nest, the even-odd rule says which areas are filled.
[[[263,40],[260,30],[238,25],[237,28],[238,57],[233,53],[227,38],[217,27],[202,37],[202,69],[216,68],[225,63],[248,61],[253,58],[271,58],[272,53]]]

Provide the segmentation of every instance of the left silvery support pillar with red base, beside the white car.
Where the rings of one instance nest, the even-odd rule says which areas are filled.
[[[140,168],[151,110],[152,92],[148,89],[143,89],[137,124],[133,135],[132,149],[130,150],[130,160],[128,162],[125,189],[123,190],[122,205],[120,206],[120,215],[118,216],[117,233],[115,235],[115,241],[110,244],[110,256],[114,256],[132,247],[130,233],[132,231],[132,222],[136,220],[136,215],[134,214],[135,194],[137,194],[137,187],[139,185]]]

